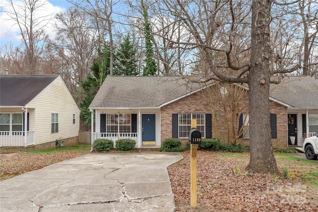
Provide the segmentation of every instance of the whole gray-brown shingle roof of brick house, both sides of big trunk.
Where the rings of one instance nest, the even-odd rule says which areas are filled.
[[[89,108],[160,107],[202,87],[181,76],[107,76]],[[285,76],[271,84],[270,97],[291,107],[318,108],[318,80]]]

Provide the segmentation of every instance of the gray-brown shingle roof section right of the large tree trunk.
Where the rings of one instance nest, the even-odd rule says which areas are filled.
[[[271,84],[270,97],[297,108],[318,108],[318,80],[311,76],[285,76]]]

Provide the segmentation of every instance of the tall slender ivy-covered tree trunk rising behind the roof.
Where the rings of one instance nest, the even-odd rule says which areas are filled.
[[[152,42],[154,40],[154,37],[152,35],[148,11],[143,0],[141,0],[141,6],[143,9],[144,32],[145,32],[145,43],[146,43],[146,53],[145,53],[146,67],[144,68],[143,75],[155,75],[157,72],[157,64],[156,64],[156,61],[154,60],[154,50],[153,50],[153,42]]]

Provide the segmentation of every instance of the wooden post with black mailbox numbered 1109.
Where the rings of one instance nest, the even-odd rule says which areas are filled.
[[[201,132],[196,130],[197,120],[191,120],[189,142],[191,143],[191,207],[197,207],[197,149],[201,143]]]

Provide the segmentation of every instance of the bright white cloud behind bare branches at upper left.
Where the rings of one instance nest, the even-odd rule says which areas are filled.
[[[23,0],[15,0],[14,5],[18,14],[23,15]],[[45,31],[49,36],[54,37],[55,32],[53,30],[54,14],[63,11],[62,7],[54,6],[48,0],[39,0],[38,5],[43,5],[37,9],[34,13],[34,18],[38,21],[42,21]],[[1,45],[6,43],[18,44],[21,41],[21,35],[18,25],[10,16],[5,12],[13,12],[12,5],[6,0],[0,0],[0,40]],[[51,18],[51,20],[46,20]]]

